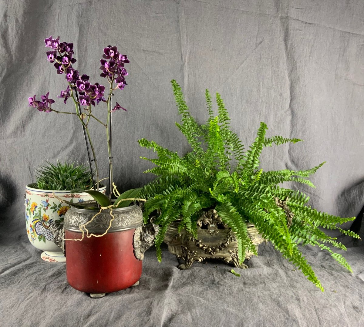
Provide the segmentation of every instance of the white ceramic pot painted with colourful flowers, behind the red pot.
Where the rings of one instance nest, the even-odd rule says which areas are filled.
[[[66,258],[63,251],[54,243],[54,235],[50,231],[50,225],[62,222],[64,214],[70,208],[65,202],[82,202],[93,200],[90,194],[71,194],[69,190],[53,191],[41,190],[33,187],[33,184],[25,186],[25,222],[27,225],[28,239],[37,249],[42,250],[41,258],[48,262],[64,262]],[[106,186],[99,189],[106,193]]]

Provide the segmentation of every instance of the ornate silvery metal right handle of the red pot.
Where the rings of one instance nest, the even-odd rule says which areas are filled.
[[[134,255],[137,259],[144,259],[144,252],[154,244],[154,238],[158,232],[159,226],[153,224],[153,222],[145,226],[139,226],[135,229],[133,247]]]

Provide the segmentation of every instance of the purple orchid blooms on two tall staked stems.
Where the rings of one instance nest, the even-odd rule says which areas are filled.
[[[75,104],[75,112],[67,112],[67,111],[59,111],[54,109],[52,105],[55,103],[53,99],[48,98],[49,92],[46,95],[41,95],[41,100],[36,100],[36,95],[28,98],[29,107],[33,107],[39,111],[43,111],[46,113],[55,112],[57,114],[71,114],[76,115],[79,118],[79,121],[82,124],[84,137],[86,141],[86,148],[88,153],[88,159],[90,164],[90,170],[92,175],[92,182],[94,184],[94,189],[99,189],[99,169],[96,160],[95,149],[91,141],[90,131],[88,129],[88,123],[90,119],[95,119],[97,122],[102,124],[106,129],[107,135],[107,146],[108,146],[108,155],[109,155],[109,199],[111,198],[111,190],[112,190],[112,156],[111,156],[111,121],[112,121],[112,113],[116,110],[125,110],[122,106],[116,102],[116,105],[112,107],[112,96],[113,91],[116,89],[123,90],[127,85],[125,81],[125,76],[128,75],[124,65],[130,63],[127,55],[120,54],[118,48],[115,46],[107,46],[104,48],[104,53],[100,60],[100,70],[102,73],[101,77],[106,78],[109,87],[108,87],[108,95],[106,98],[105,86],[95,83],[91,84],[89,81],[90,76],[83,74],[81,75],[78,70],[76,70],[72,65],[76,62],[76,59],[73,58],[74,50],[73,43],[60,42],[59,36],[57,38],[53,38],[50,36],[49,38],[44,40],[47,48],[50,48],[49,51],[46,52],[47,60],[50,63],[54,63],[54,67],[57,70],[57,74],[65,75],[65,79],[68,83],[66,90],[62,90],[60,95],[57,97],[59,99],[63,99],[63,102],[66,104],[69,98],[72,98]],[[97,118],[92,112],[93,107],[95,105],[99,105],[100,102],[105,102],[107,104],[107,121],[102,122],[99,118]],[[81,109],[83,108],[83,110]],[[93,159],[91,159],[91,154],[89,150],[89,146],[92,151]],[[95,165],[96,172],[96,180],[94,178],[94,173],[92,169],[92,162]]]

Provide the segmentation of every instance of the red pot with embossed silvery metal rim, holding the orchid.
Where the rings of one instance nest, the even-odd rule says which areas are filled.
[[[138,284],[144,252],[158,232],[157,225],[143,226],[137,205],[98,212],[71,206],[64,217],[68,283],[93,298]]]

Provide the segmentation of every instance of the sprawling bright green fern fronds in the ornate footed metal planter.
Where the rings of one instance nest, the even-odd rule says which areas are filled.
[[[335,229],[359,238],[355,233],[336,226],[355,217],[340,218],[319,212],[307,205],[309,197],[305,194],[279,186],[283,182],[294,181],[314,187],[307,177],[315,173],[324,162],[307,170],[263,171],[259,168],[259,158],[265,146],[301,140],[281,136],[266,138],[268,128],[261,122],[257,138],[245,151],[238,135],[230,127],[229,114],[218,93],[218,115],[214,117],[212,98],[209,90],[206,90],[209,118],[206,124],[199,125],[190,114],[181,87],[175,80],[171,83],[178,113],[181,115],[181,122],[176,125],[187,138],[192,151],[180,157],[154,141],[139,140],[141,146],[153,149],[158,155],[156,159],[141,157],[156,165],[145,173],[158,176],[142,190],[142,196],[147,199],[144,205],[145,222],[155,210],[160,213],[154,219],[154,223],[161,226],[155,238],[158,260],[161,261],[161,243],[169,224],[179,221],[180,231],[185,228],[197,237],[196,222],[202,210],[215,208],[222,221],[236,233],[240,262],[245,258],[246,250],[257,254],[247,232],[246,223],[251,222],[275,249],[322,291],[320,280],[299,246],[317,245],[352,271],[345,258],[331,249],[336,247],[345,250],[345,246],[320,228]],[[293,214],[291,226],[288,226],[287,210]]]

